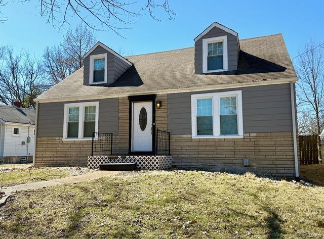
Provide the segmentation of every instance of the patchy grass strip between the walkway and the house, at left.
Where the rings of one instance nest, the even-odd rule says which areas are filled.
[[[0,169],[0,186],[63,178],[89,172],[85,167],[42,167]]]

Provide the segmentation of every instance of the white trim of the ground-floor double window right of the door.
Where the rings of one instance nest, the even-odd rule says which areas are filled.
[[[236,113],[237,113],[237,135],[221,135],[220,134],[220,101],[221,97],[236,97]],[[197,135],[197,100],[212,98],[213,106],[213,135]],[[242,138],[243,131],[243,110],[242,110],[242,91],[225,91],[205,94],[191,95],[191,137],[192,138]]]

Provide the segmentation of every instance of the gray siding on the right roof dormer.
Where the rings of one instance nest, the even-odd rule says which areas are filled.
[[[207,34],[201,37],[194,43],[194,69],[195,74],[203,74],[203,39],[217,37],[217,36],[227,36],[227,51],[228,51],[228,70],[237,70],[239,47],[237,44],[237,37],[223,31],[217,27],[211,29]]]

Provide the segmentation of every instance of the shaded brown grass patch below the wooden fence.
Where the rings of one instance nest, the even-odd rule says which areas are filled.
[[[299,167],[301,178],[305,178],[314,185],[324,186],[324,164],[304,164]]]

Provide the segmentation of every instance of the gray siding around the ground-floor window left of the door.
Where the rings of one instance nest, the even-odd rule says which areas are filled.
[[[118,134],[118,98],[78,101],[99,101],[99,132]],[[73,102],[55,102],[38,104],[37,137],[62,137],[64,123],[64,104]]]

